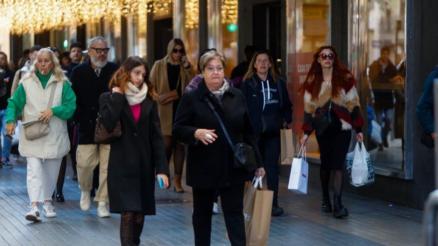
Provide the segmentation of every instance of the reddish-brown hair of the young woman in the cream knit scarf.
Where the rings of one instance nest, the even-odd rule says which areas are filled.
[[[120,87],[120,90],[124,93],[127,83],[130,83],[132,69],[138,66],[143,66],[146,70],[144,82],[146,82],[147,85],[147,94],[153,99],[156,99],[158,95],[155,92],[155,85],[149,79],[149,66],[147,66],[146,61],[138,56],[130,56],[125,60],[117,72],[115,72],[114,76],[112,76],[112,79],[109,82],[109,89]]]

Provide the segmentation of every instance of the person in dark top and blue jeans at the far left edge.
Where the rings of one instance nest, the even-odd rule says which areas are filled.
[[[9,69],[7,64],[6,53],[0,51],[0,69],[5,70],[6,74],[3,81],[0,81],[0,123],[1,134],[3,134],[3,143],[0,145],[1,152],[1,166],[6,168],[12,168],[12,164],[9,161],[10,148],[12,140],[6,135],[6,115],[7,115],[7,99],[10,97],[10,90],[12,88],[12,81],[14,79],[14,71]]]

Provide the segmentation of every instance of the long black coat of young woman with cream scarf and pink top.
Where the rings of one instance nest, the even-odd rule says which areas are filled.
[[[154,215],[155,175],[169,175],[157,102],[149,96],[143,100],[137,123],[120,93],[103,93],[100,106],[102,124],[108,131],[118,120],[121,125],[121,136],[111,142],[109,151],[109,211]]]

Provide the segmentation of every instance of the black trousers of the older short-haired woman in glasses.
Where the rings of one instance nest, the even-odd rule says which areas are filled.
[[[245,246],[245,223],[243,221],[244,184],[219,189],[220,202],[226,231],[232,246]],[[193,190],[192,223],[195,231],[195,245],[209,246],[212,234],[213,200],[216,189]]]

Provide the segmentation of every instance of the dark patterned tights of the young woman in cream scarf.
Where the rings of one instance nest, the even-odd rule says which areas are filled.
[[[141,212],[121,212],[120,214],[120,243],[122,246],[140,244],[143,231],[144,214]]]

